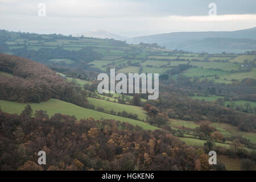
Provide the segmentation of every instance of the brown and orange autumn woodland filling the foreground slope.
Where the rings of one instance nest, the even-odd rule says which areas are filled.
[[[194,170],[200,157],[168,131],[35,113],[31,118],[0,111],[0,170]],[[47,164],[39,166],[41,150]]]

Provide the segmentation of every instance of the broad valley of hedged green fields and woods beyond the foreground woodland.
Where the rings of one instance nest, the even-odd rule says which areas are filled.
[[[167,50],[157,44],[7,31],[0,31],[0,38],[5,40],[0,51],[6,54],[0,59],[2,84],[8,85],[6,78],[35,79],[42,97],[39,100],[37,93],[31,92],[32,96],[23,98],[9,83],[9,87],[2,89],[13,90],[12,94],[18,95],[1,96],[2,112],[20,115],[30,105],[32,118],[35,111],[43,110],[49,117],[61,113],[73,115],[77,120],[114,119],[148,132],[171,134],[196,149],[208,150],[207,144],[212,143],[227,169],[232,169],[230,161],[240,165],[240,153],[234,152],[234,146],[238,145],[241,155],[253,155],[256,144],[253,51],[193,53]],[[48,80],[43,71],[23,68],[19,61],[13,68],[7,55],[44,64],[51,69],[51,77]],[[159,73],[159,99],[148,101],[147,94],[98,94],[97,75],[109,74],[110,69],[116,73]],[[48,83],[40,83],[40,78],[42,82],[47,78],[44,81]],[[33,90],[34,85],[30,86]],[[44,87],[48,96],[44,95]],[[209,131],[205,133],[204,127]],[[237,140],[240,140],[238,144]]]

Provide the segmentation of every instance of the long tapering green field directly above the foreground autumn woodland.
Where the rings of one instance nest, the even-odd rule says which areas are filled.
[[[127,122],[127,123],[130,123],[131,125],[141,126],[143,127],[143,129],[146,129],[146,130],[158,129],[158,127],[151,126],[148,123],[145,123],[142,121],[119,117],[117,115],[112,115],[112,114],[101,113],[99,111],[86,109],[68,102],[55,100],[55,99],[51,99],[47,102],[41,102],[41,103],[18,103],[18,102],[0,100],[1,110],[11,114],[14,114],[14,113],[20,114],[22,110],[24,110],[24,107],[27,106],[28,104],[30,104],[30,106],[34,111],[35,110],[47,111],[47,114],[50,117],[55,113],[61,113],[61,114],[67,114],[67,115],[75,115],[77,119],[82,119],[82,118],[115,119],[116,121]]]

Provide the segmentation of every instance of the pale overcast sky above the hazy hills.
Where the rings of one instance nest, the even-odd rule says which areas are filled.
[[[46,16],[42,6],[46,5]],[[209,16],[210,3],[216,15]],[[134,37],[256,27],[255,0],[0,0],[0,29],[39,34],[105,30]]]

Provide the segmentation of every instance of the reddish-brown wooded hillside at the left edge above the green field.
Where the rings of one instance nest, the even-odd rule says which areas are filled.
[[[56,72],[35,61],[0,53],[0,99],[16,102],[42,102],[50,98],[86,106],[81,87],[67,82]]]

